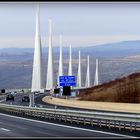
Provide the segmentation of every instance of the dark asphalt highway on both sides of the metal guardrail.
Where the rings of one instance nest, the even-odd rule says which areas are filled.
[[[17,94],[15,101],[5,101],[4,98],[0,100],[1,103],[29,106],[29,103],[22,102],[22,97],[27,94]],[[36,106],[54,108],[53,105],[49,105],[42,102],[42,97],[46,94],[40,94],[35,96]],[[64,109],[63,106],[58,108]],[[69,108],[67,108],[69,109]],[[74,109],[74,108],[73,108]],[[17,116],[10,116],[0,113],[0,137],[139,137],[139,134],[114,131],[113,129],[105,129],[78,126],[75,124],[67,124],[64,122],[55,122],[46,120],[41,122],[39,120],[32,120],[27,118],[20,118]]]

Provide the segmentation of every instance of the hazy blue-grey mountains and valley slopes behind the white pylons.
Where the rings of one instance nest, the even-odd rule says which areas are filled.
[[[78,51],[82,58],[82,86],[86,78],[86,56],[90,56],[91,83],[94,83],[95,58],[99,58],[99,81],[104,83],[140,71],[140,41],[123,41],[97,46],[72,48],[73,74],[77,75]],[[0,49],[0,88],[30,88],[34,48]],[[47,52],[43,47],[42,82],[46,83]],[[58,71],[59,47],[53,47],[54,71]],[[68,72],[69,48],[63,48],[64,74]],[[56,77],[56,76],[54,76]],[[55,80],[55,79],[54,79]],[[56,82],[56,80],[55,80]]]

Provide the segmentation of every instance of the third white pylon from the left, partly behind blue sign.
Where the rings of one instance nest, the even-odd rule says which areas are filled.
[[[62,35],[59,36],[60,40],[60,56],[59,56],[59,69],[58,69],[58,84],[59,84],[59,76],[63,76],[63,57],[62,57]]]

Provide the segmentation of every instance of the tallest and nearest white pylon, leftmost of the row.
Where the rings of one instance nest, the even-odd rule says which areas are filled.
[[[36,31],[35,31],[35,47],[33,59],[33,72],[32,72],[32,87],[31,92],[41,90],[41,63],[42,63],[42,50],[40,38],[40,20],[39,20],[39,4],[37,4],[36,11]]]

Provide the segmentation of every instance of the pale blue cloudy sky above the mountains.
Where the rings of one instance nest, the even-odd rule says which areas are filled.
[[[0,2],[0,48],[33,48],[35,2]],[[42,47],[48,47],[48,20],[52,19],[53,46],[86,47],[140,40],[140,2],[40,2]]]

